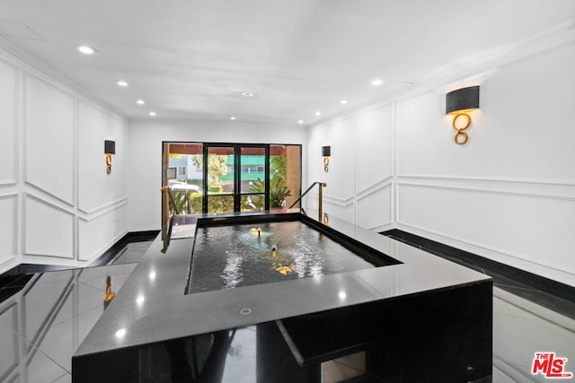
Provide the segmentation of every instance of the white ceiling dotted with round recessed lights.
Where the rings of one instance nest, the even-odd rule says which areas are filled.
[[[0,0],[4,39],[129,118],[267,125],[385,99],[573,18],[573,0]]]

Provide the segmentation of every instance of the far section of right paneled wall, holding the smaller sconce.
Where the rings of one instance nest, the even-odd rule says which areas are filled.
[[[384,230],[392,221],[393,116],[391,104],[309,129],[308,179],[327,183],[323,211],[368,229]],[[322,146],[332,147],[323,171]],[[317,189],[305,206],[317,209]]]

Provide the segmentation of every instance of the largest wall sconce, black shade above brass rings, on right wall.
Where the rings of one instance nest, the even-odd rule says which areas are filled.
[[[453,127],[457,133],[454,141],[458,145],[463,145],[469,140],[469,135],[465,132],[471,125],[471,117],[467,112],[479,108],[479,86],[450,91],[446,95],[446,114],[454,115]]]

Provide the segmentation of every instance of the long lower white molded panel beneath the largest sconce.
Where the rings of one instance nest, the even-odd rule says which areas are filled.
[[[482,257],[501,261],[502,256],[509,265],[515,259],[527,271],[542,266],[575,275],[575,262],[565,252],[573,243],[569,234],[573,196],[412,182],[398,182],[397,187],[399,228],[429,233],[444,243],[445,239],[459,242]],[[553,220],[560,220],[562,226],[553,228]]]

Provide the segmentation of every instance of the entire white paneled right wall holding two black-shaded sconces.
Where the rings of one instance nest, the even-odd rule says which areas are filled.
[[[329,185],[325,210],[575,286],[575,34],[565,33],[491,67],[483,61],[461,80],[313,126],[308,172]],[[481,86],[481,108],[468,144],[457,145],[446,93],[470,84]]]

